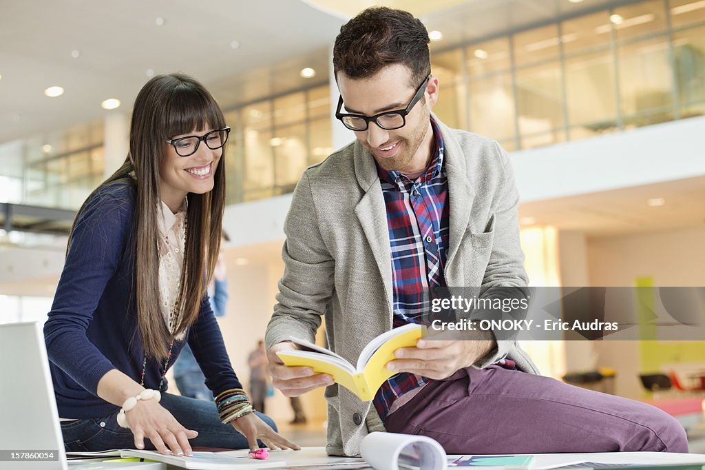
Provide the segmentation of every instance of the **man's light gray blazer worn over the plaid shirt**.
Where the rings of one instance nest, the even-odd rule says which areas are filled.
[[[526,286],[519,197],[508,155],[494,140],[434,119],[443,135],[448,175],[448,286]],[[284,231],[285,268],[266,330],[267,349],[289,336],[314,341],[325,316],[328,347],[356,363],[365,344],[392,327],[391,248],[372,155],[355,141],[307,169]],[[537,373],[514,341],[498,341],[494,354],[475,366],[505,356],[521,370]],[[367,433],[384,430],[372,403],[345,387],[333,384],[325,396],[329,454],[358,455]]]

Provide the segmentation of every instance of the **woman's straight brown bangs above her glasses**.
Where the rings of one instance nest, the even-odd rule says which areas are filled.
[[[161,120],[164,125],[158,128],[166,132],[164,138],[225,127],[223,113],[213,97],[206,90],[185,82],[166,98]]]

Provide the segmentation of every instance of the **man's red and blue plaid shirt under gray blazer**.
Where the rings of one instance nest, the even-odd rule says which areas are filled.
[[[431,163],[416,181],[399,171],[377,171],[387,211],[391,244],[393,327],[422,323],[424,294],[429,287],[445,287],[448,247],[448,177],[443,167],[443,137],[431,119],[435,150]],[[426,299],[427,300],[427,299]],[[398,373],[384,382],[374,397],[382,420],[397,397],[429,379]]]

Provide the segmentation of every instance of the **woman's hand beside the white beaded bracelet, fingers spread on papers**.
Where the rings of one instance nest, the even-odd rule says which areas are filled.
[[[137,405],[125,414],[130,430],[135,435],[135,447],[145,448],[145,438],[160,454],[192,455],[188,440],[195,438],[195,430],[186,429],[176,421],[169,411],[155,400],[140,400]]]

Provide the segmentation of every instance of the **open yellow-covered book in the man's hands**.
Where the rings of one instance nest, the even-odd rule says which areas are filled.
[[[384,381],[397,373],[385,368],[386,363],[393,361],[394,351],[415,347],[416,342],[424,336],[426,327],[416,323],[389,330],[372,339],[362,349],[357,367],[329,349],[292,337],[288,338],[289,341],[298,344],[300,349],[278,351],[276,354],[287,366],[306,366],[313,368],[314,372],[330,374],[333,380],[356,394],[363,402],[369,402]]]

